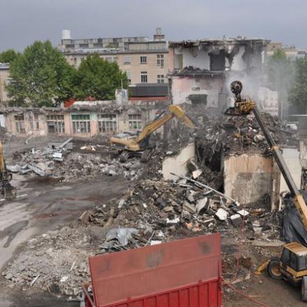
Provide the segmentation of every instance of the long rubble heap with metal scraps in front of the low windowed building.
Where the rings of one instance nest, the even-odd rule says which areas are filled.
[[[98,145],[82,146],[80,152],[73,150],[73,143],[70,141],[71,139],[58,147],[50,144],[44,149],[32,148],[29,151],[15,153],[17,163],[7,165],[8,170],[20,174],[33,172],[41,177],[50,176],[61,181],[91,179],[99,174],[121,175],[127,179],[136,179],[142,174],[144,165],[139,159],[120,163],[117,158],[112,159],[105,154],[107,151],[96,150]]]

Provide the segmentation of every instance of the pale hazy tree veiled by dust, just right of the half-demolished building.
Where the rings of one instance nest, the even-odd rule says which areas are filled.
[[[287,58],[283,50],[276,50],[268,61],[269,87],[278,91],[278,100],[287,112],[288,93],[294,80],[294,64]]]

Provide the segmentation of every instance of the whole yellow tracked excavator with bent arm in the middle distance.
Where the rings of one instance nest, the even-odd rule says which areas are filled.
[[[179,105],[169,105],[167,111],[162,112],[151,123],[147,123],[140,134],[124,132],[111,137],[111,146],[120,151],[119,160],[126,162],[130,156],[141,156],[141,162],[147,162],[154,148],[149,144],[150,135],[173,117],[177,117],[190,128],[195,127]]]

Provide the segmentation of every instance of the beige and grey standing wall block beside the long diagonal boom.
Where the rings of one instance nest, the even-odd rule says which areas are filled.
[[[273,158],[248,155],[225,156],[224,190],[240,204],[257,202],[273,190]]]

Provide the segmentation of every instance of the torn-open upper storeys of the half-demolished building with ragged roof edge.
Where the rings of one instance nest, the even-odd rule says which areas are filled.
[[[234,78],[253,80],[257,92],[269,40],[223,38],[170,42],[170,95],[174,104],[204,103],[223,109]],[[244,82],[248,88],[249,82]]]

